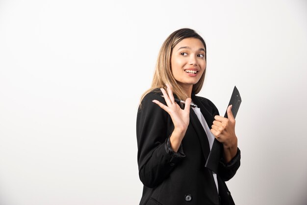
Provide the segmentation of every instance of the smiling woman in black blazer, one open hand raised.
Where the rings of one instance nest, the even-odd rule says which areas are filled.
[[[234,204],[225,181],[240,166],[235,120],[231,105],[227,119],[212,102],[195,96],[205,68],[205,41],[194,30],[179,29],[163,43],[137,113],[140,205]],[[214,139],[223,147],[215,172],[205,167]]]

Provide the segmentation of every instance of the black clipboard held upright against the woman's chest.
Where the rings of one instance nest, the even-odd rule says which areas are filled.
[[[228,106],[232,104],[231,112],[234,118],[236,117],[238,113],[241,102],[242,102],[242,99],[241,99],[240,93],[238,89],[236,88],[236,86],[234,86],[231,97],[230,97],[230,101],[228,103]],[[227,110],[226,110],[224,117],[228,118]],[[217,141],[217,139],[214,139],[211,151],[205,163],[205,167],[207,167],[214,173],[218,172],[218,167],[219,167],[219,162],[220,162],[222,151],[223,151],[223,144]]]

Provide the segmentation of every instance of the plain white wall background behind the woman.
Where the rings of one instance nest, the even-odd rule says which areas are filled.
[[[138,101],[182,27],[199,95],[242,96],[236,204],[306,205],[306,0],[0,0],[0,205],[137,205]]]

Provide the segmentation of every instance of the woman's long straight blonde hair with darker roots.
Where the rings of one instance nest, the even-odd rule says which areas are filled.
[[[157,88],[165,88],[165,83],[169,83],[172,86],[173,93],[180,100],[185,101],[188,96],[185,94],[182,87],[179,85],[175,77],[172,73],[171,68],[171,56],[173,52],[173,48],[183,39],[185,38],[197,38],[202,41],[205,47],[205,60],[206,60],[206,45],[204,39],[193,29],[190,28],[181,28],[179,30],[174,31],[171,35],[167,37],[164,41],[156,62],[155,71],[153,75],[153,82],[150,89],[145,91],[141,96],[140,105],[143,98],[154,89]],[[192,93],[197,94],[201,91],[205,80],[205,71],[201,76],[200,80],[193,85]]]

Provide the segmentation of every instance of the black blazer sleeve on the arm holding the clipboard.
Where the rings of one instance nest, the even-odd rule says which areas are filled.
[[[215,115],[219,115],[219,111],[216,108],[216,106],[208,100],[208,104],[213,108],[212,117],[214,118]],[[223,157],[223,146],[221,146],[222,153],[221,158],[219,161],[219,168],[218,168],[218,175],[223,179],[224,181],[230,180],[236,173],[236,171],[240,167],[240,159],[241,159],[241,152],[238,148],[236,155],[230,160],[230,162],[226,163]]]

